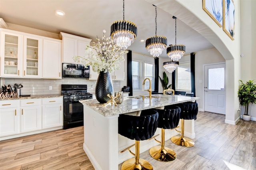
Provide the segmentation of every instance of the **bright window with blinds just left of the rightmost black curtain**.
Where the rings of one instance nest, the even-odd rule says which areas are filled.
[[[180,63],[175,70],[175,90],[191,91],[190,63]]]

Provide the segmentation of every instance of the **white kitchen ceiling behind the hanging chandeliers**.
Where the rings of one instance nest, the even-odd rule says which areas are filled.
[[[156,31],[155,7],[145,0],[125,0],[124,19],[137,25],[134,43],[128,47],[137,53],[150,55],[145,48],[148,37]],[[65,16],[55,11],[62,10]],[[7,24],[17,24],[52,33],[71,33],[96,41],[102,30],[110,35],[112,23],[123,19],[122,0],[0,0],[0,18]],[[167,38],[168,45],[175,44],[175,20],[172,15],[157,8],[157,35]],[[197,31],[177,18],[177,44],[186,46],[186,54],[214,46]],[[166,50],[160,57],[167,57]]]

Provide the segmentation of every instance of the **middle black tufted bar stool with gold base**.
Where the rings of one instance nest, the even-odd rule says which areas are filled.
[[[150,155],[161,162],[170,162],[176,159],[176,153],[167,147],[164,147],[164,134],[165,129],[174,129],[178,126],[180,121],[180,107],[170,106],[169,109],[156,109],[159,114],[158,126],[161,128],[161,141],[156,140],[161,143],[161,146],[152,147],[149,150]]]

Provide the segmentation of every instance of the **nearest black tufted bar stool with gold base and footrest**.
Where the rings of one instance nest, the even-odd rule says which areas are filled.
[[[140,158],[140,141],[150,139],[156,132],[158,112],[149,109],[142,111],[140,116],[121,114],[118,117],[118,133],[124,137],[135,140],[135,154],[130,151],[134,145],[121,151],[129,150],[135,156],[124,161],[121,170],[152,170],[152,165]]]

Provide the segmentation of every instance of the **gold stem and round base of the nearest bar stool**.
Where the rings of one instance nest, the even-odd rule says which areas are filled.
[[[121,170],[153,170],[148,161],[140,158],[140,141],[135,141],[135,160],[130,158],[124,161]]]

